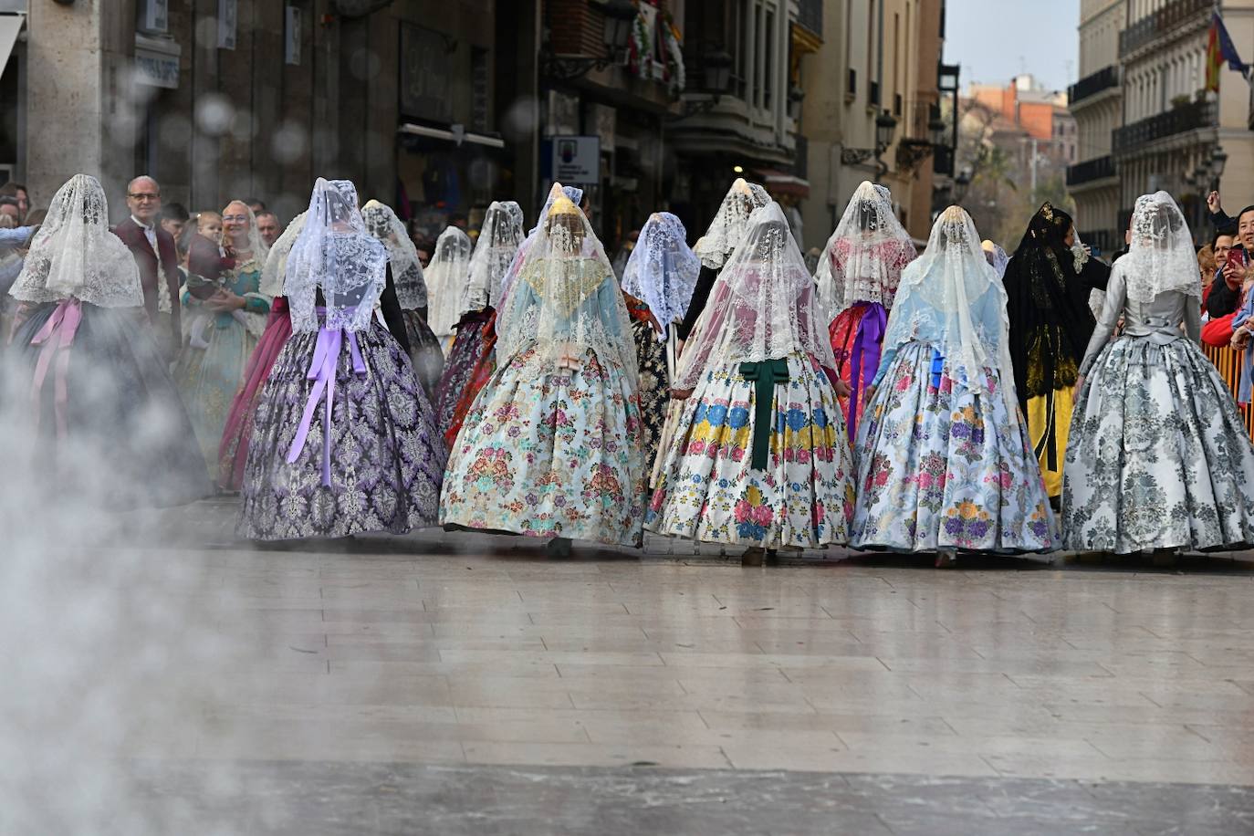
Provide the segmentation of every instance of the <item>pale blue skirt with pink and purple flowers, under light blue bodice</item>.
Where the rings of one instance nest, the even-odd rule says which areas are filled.
[[[892,360],[859,430],[853,541],[858,549],[1047,553],[1053,514],[1027,435],[999,375],[992,391],[933,368],[930,345]]]

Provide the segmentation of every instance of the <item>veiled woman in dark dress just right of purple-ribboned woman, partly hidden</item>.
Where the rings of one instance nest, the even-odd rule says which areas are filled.
[[[335,182],[335,180],[332,180]],[[396,301],[400,302],[401,318],[405,321],[405,336],[409,338],[409,358],[414,362],[414,372],[423,391],[429,399],[435,396],[435,387],[444,374],[444,351],[440,340],[426,325],[428,293],[423,264],[418,259],[418,248],[405,232],[391,207],[370,201],[361,209],[366,229],[382,242],[387,249],[387,264],[396,285]]]

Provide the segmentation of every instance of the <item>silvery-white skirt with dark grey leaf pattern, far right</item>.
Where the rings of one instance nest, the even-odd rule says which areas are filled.
[[[1062,524],[1086,551],[1254,543],[1254,445],[1196,345],[1124,336],[1099,355],[1076,399]]]

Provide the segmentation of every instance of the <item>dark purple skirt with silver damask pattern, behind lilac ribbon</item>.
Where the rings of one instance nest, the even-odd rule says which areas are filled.
[[[293,333],[262,387],[241,490],[241,536],[256,540],[404,534],[433,525],[444,442],[430,401],[400,343],[375,321],[356,335],[365,372],[340,347],[331,411],[330,485],[324,484],[326,392],[296,461],[296,440],[315,381],[319,333]]]

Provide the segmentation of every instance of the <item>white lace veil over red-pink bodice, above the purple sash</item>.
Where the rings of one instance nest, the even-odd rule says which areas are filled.
[[[915,254],[910,233],[893,212],[892,193],[863,180],[819,258],[819,298],[833,317],[855,302],[892,308],[902,271]]]

